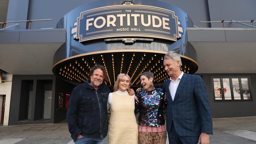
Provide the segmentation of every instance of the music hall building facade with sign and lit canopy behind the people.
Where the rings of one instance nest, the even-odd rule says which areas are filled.
[[[72,89],[97,64],[108,71],[110,89],[121,72],[136,88],[139,74],[152,71],[161,86],[168,79],[162,58],[170,50],[181,55],[184,72],[204,79],[213,118],[256,116],[255,5],[254,0],[0,0],[0,22],[12,22],[0,30],[2,123],[65,120]]]

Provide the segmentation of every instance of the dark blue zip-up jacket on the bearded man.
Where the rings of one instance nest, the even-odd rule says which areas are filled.
[[[72,139],[78,135],[102,139],[108,133],[107,102],[110,90],[104,84],[96,91],[88,81],[76,86],[67,109],[67,123]]]

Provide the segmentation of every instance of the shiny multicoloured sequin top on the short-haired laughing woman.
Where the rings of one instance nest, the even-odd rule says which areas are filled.
[[[167,103],[165,92],[161,88],[152,91],[144,89],[135,94],[139,102],[135,101],[135,114],[139,113],[139,126],[160,127],[165,124],[163,110]]]

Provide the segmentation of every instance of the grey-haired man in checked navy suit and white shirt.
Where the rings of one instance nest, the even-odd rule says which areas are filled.
[[[180,70],[180,55],[168,52],[163,66],[171,77],[163,83],[167,96],[167,124],[170,144],[209,144],[211,109],[204,81]]]

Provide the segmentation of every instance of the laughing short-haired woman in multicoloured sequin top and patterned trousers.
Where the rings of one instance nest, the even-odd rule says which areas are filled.
[[[139,113],[139,144],[165,144],[165,92],[154,87],[152,72],[142,73],[140,79],[143,89],[136,92],[135,102],[135,114]]]

